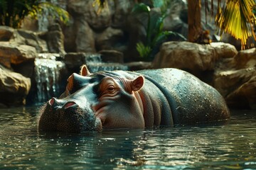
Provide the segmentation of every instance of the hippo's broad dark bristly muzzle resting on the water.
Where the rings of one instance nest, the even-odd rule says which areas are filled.
[[[41,108],[38,121],[39,131],[85,132],[100,131],[102,123],[89,109],[82,109],[74,101],[63,106],[54,106],[50,99]]]

